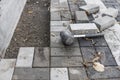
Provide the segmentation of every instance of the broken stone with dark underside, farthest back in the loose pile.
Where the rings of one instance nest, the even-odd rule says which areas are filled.
[[[99,12],[100,7],[96,4],[87,4],[85,6],[81,6],[80,10],[86,11],[87,14],[94,14]]]

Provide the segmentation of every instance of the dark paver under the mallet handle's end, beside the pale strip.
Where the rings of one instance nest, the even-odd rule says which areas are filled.
[[[95,46],[108,46],[104,37],[96,37],[93,40],[96,43]]]

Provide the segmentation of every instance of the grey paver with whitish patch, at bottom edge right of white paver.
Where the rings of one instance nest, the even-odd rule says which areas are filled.
[[[88,80],[84,68],[69,68],[70,80]]]

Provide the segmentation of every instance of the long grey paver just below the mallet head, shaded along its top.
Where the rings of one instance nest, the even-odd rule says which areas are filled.
[[[51,48],[51,56],[81,56],[79,48]]]

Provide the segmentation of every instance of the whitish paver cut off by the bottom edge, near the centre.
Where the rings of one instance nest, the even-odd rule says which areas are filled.
[[[69,80],[67,68],[51,68],[51,80]]]

